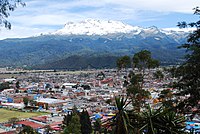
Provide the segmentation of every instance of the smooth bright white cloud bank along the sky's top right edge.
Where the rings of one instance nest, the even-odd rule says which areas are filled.
[[[198,0],[109,0],[111,3],[135,10],[191,13]]]

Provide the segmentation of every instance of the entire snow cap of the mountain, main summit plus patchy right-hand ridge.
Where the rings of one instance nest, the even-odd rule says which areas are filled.
[[[147,37],[152,34],[166,34],[173,36],[174,34],[183,35],[188,33],[188,29],[158,29],[155,26],[142,28],[139,26],[131,26],[120,21],[113,20],[94,20],[87,19],[80,22],[68,22],[64,28],[57,30],[53,35],[108,35],[108,34],[132,34]]]

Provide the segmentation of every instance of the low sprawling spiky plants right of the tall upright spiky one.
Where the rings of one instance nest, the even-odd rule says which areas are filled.
[[[185,118],[169,109],[152,109],[150,105],[141,113],[140,132],[146,134],[183,134]]]

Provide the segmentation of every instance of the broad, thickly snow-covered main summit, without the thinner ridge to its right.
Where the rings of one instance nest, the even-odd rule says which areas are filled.
[[[107,35],[114,33],[140,32],[140,27],[133,27],[120,21],[87,19],[80,22],[68,22],[63,29],[53,34],[59,35]]]

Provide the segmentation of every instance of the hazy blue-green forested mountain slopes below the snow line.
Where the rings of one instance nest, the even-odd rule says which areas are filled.
[[[107,37],[101,37],[99,40],[99,37],[91,36],[43,35],[6,39],[0,40],[0,53],[4,57],[0,61],[0,66],[27,65],[34,69],[56,70],[87,69],[88,65],[91,65],[91,68],[113,68],[116,67],[115,63],[119,56],[133,55],[142,49],[151,51],[153,57],[165,65],[180,63],[184,51],[177,49],[177,46],[181,44],[173,39],[167,39],[164,37],[162,43],[152,39],[138,40],[134,37],[131,40],[127,37],[122,40],[113,37],[107,43]]]

